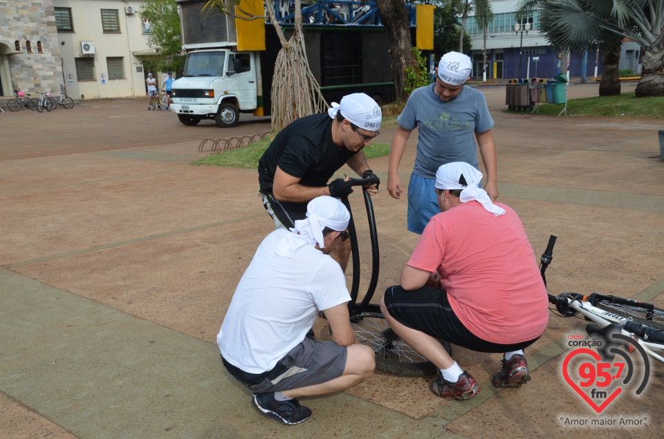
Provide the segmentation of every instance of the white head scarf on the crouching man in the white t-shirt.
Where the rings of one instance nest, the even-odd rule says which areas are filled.
[[[318,244],[319,248],[324,248],[323,229],[330,227],[343,232],[349,221],[351,214],[340,200],[326,195],[316,197],[306,205],[306,219],[295,221],[295,227],[291,228],[293,233],[279,242],[275,253],[292,258],[295,250],[303,245]]]

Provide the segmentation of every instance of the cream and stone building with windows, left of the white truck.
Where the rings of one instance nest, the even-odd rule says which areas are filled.
[[[14,88],[64,89],[74,99],[145,95],[154,52],[140,3],[0,1],[0,95]]]

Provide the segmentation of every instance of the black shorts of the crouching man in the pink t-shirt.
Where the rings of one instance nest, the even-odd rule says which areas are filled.
[[[441,288],[424,286],[407,291],[392,286],[385,291],[385,306],[389,315],[400,324],[427,335],[445,340],[476,352],[503,353],[518,351],[535,343],[538,338],[514,344],[498,344],[477,337],[454,314],[448,293]],[[515,331],[519,328],[515,328]]]

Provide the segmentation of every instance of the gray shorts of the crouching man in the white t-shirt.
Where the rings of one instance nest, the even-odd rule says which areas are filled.
[[[347,355],[346,346],[305,338],[265,373],[247,373],[222,360],[228,372],[248,389],[255,393],[271,393],[334,380],[344,374]]]

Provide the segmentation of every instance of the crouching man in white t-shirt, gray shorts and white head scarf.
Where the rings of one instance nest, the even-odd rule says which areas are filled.
[[[295,398],[343,391],[367,380],[374,351],[355,344],[346,277],[330,252],[348,239],[348,209],[319,196],[306,219],[259,245],[235,290],[216,342],[228,372],[254,392],[257,409],[294,425],[311,416]],[[332,340],[306,337],[317,315]]]

